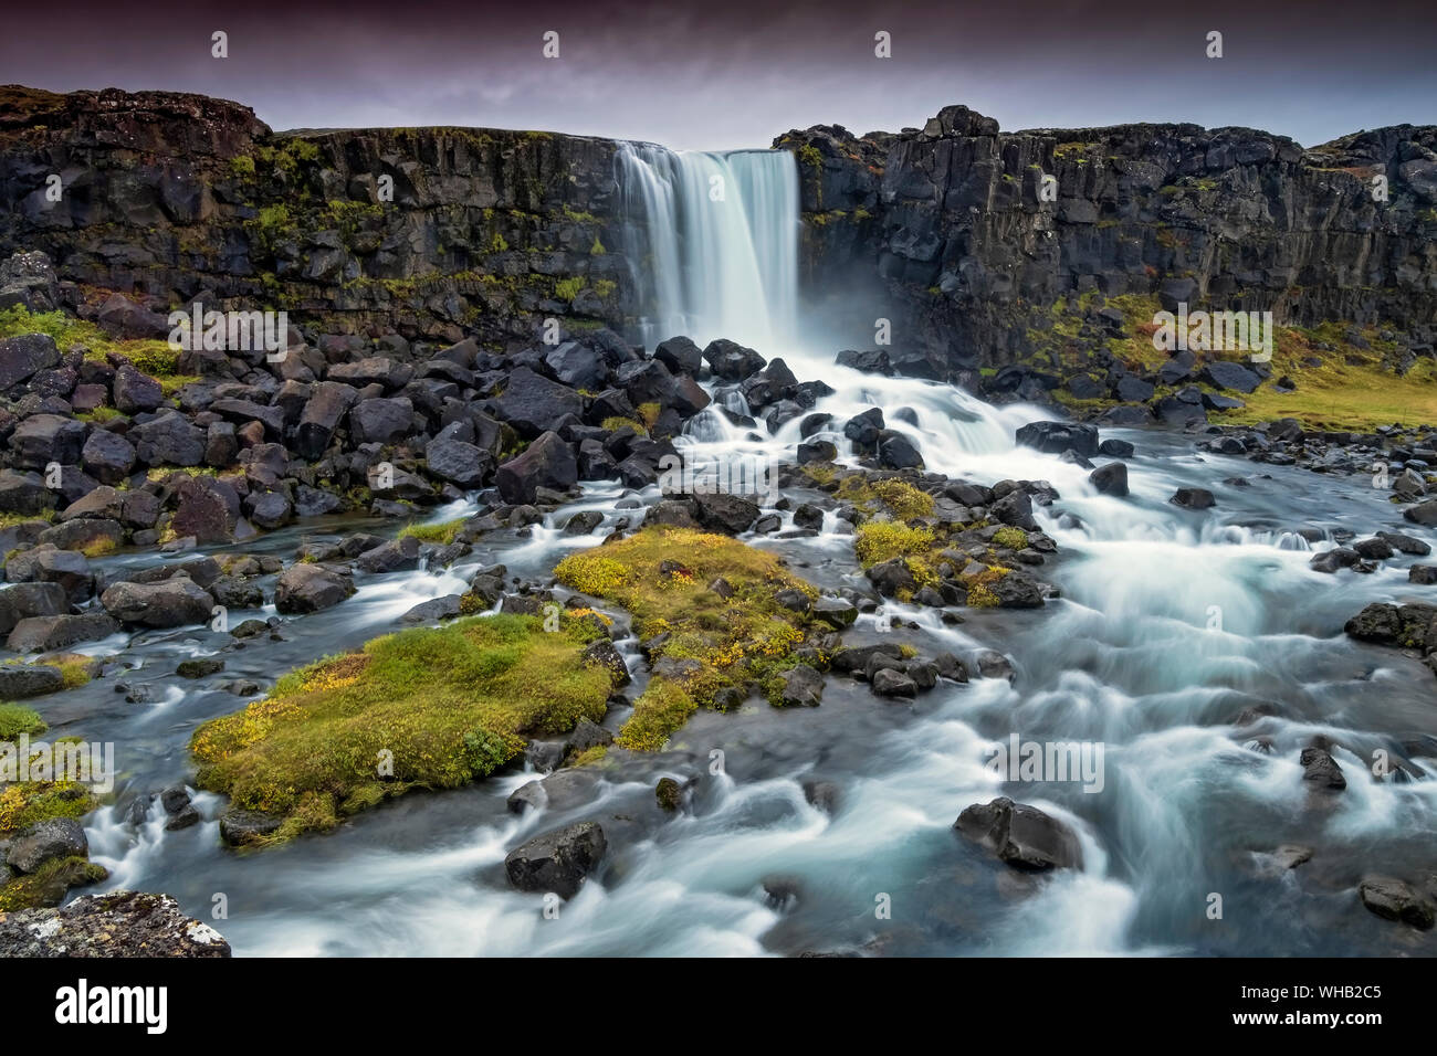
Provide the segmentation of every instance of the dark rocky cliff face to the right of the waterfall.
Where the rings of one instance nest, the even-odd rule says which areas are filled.
[[[923,129],[815,126],[775,145],[799,162],[805,289],[833,315],[845,309],[823,293],[842,290],[855,341],[891,318],[891,356],[908,372],[1023,361],[1059,299],[1094,292],[1272,310],[1279,325],[1388,326],[1431,351],[1433,126],[1303,151],[1196,125],[1000,134],[950,106]],[[1045,175],[1055,201],[1040,200]]]

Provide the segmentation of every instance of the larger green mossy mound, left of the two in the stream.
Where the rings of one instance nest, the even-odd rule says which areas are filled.
[[[581,652],[592,624],[500,615],[415,628],[292,671],[195,730],[197,784],[285,818],[266,842],[333,828],[412,787],[451,789],[606,710],[611,675]],[[392,774],[384,773],[392,760]]]

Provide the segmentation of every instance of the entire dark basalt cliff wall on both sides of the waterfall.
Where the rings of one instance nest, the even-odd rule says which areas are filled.
[[[1059,353],[1055,316],[1124,295],[1391,328],[1408,356],[1431,352],[1433,126],[1305,151],[1196,125],[1002,134],[950,106],[923,129],[815,126],[775,145],[799,162],[815,318],[858,346],[890,319],[891,358],[911,374],[1082,359],[1101,320],[1082,320],[1091,349],[1065,338]],[[616,148],[458,128],[277,135],[204,96],[0,88],[0,253],[49,253],[72,302],[198,296],[493,348],[532,343],[549,318],[624,329],[639,306]]]

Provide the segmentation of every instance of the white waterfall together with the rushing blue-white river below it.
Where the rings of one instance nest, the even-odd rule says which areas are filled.
[[[1114,430],[1106,435],[1137,445],[1132,493],[1098,494],[1085,470],[1013,444],[1017,427],[1049,412],[858,374],[836,366],[832,349],[798,341],[806,328],[798,319],[790,155],[634,147],[618,167],[635,243],[625,249],[639,261],[648,305],[645,343],[675,333],[700,345],[720,336],[749,343],[782,356],[800,381],[828,382],[836,392],[815,409],[838,427],[881,407],[930,470],[1058,488],[1061,499],[1038,517],[1061,553],[1039,573],[1061,599],[1042,611],[970,612],[957,626],[933,609],[884,606],[882,615],[920,625],[887,634],[921,655],[1007,654],[1012,684],[943,681],[917,701],[888,703],[831,675],[818,708],[750,701],[737,714],[700,711],[667,751],[598,772],[583,802],[512,815],[506,796],[536,774],[510,773],[410,795],[263,855],[221,849],[218,797],[198,796],[203,825],[165,832],[158,812],[138,828],[125,820],[122,792],[88,830],[95,859],[112,871],[109,886],[172,892],[204,920],[223,892],[228,917],[214,922],[241,955],[1433,953],[1430,937],[1380,921],[1355,894],[1369,871],[1420,876],[1437,835],[1437,783],[1427,780],[1437,757],[1431,672],[1341,632],[1362,605],[1400,596],[1405,569],[1326,576],[1308,560],[1332,543],[1296,533],[1400,530],[1384,493],[1364,480],[1197,453],[1190,437]],[[713,177],[723,201],[710,198]],[[740,394],[711,389],[723,407],[746,412]],[[769,435],[710,409],[678,443],[696,458],[779,453],[792,461],[798,430],[795,420]],[[854,460],[841,432],[821,435]],[[1187,486],[1211,488],[1217,506],[1173,506],[1168,497]],[[362,579],[343,605],[287,624],[286,641],[227,654],[227,675],[267,680],[355,648],[394,629],[410,605],[463,589],[479,565],[543,576],[563,553],[629,523],[616,509],[624,494],[616,484],[586,486],[582,501],[547,516],[530,537],[483,540],[444,572]],[[642,497],[657,499],[657,488]],[[787,497],[798,506],[819,493]],[[468,509],[447,507],[434,520]],[[579,509],[604,511],[605,523],[592,536],[562,534]],[[782,517],[792,527],[792,514]],[[747,542],[825,589],[867,589],[852,537],[836,527],[829,513],[818,536]],[[263,546],[292,552],[299,539],[299,529],[286,529]],[[878,616],[865,615],[845,639],[881,634]],[[158,680],[204,639],[194,631],[142,636],[132,651],[147,662],[128,681]],[[645,678],[635,645],[619,642],[635,672],[631,695]],[[138,711],[118,700],[96,705],[99,694],[92,684],[72,700],[91,708],[89,740],[126,747],[131,792],[182,779],[190,733],[234,707],[233,697],[203,690],[168,688]],[[1256,717],[1237,728],[1244,711]],[[606,724],[616,728],[625,715],[616,710]],[[1101,741],[1102,790],[1009,782],[989,760],[1013,733]],[[1298,756],[1316,736],[1336,744],[1348,774],[1341,795],[1311,796],[1302,780]],[[720,773],[708,766],[716,749]],[[1423,779],[1368,779],[1378,749]],[[661,776],[697,779],[677,816],[654,807]],[[806,800],[810,780],[838,786],[832,815]],[[1083,868],[1017,874],[953,832],[964,807],[999,795],[1071,825]],[[503,856],[582,819],[609,830],[609,858],[602,878],[549,918],[540,897],[509,888]],[[1283,845],[1315,853],[1283,869],[1272,858]],[[885,904],[887,918],[877,912]]]

